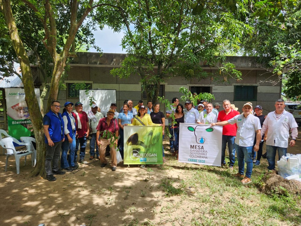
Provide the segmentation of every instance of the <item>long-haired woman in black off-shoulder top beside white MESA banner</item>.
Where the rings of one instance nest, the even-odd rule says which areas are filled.
[[[172,122],[174,123],[174,122]],[[172,128],[174,128],[174,138],[173,138],[173,148],[175,152],[172,153],[172,156],[177,155],[177,160],[179,160],[178,150],[179,150],[179,133],[180,133],[180,123],[184,123],[184,113],[183,113],[183,105],[178,104],[175,109],[175,124],[173,124]]]

